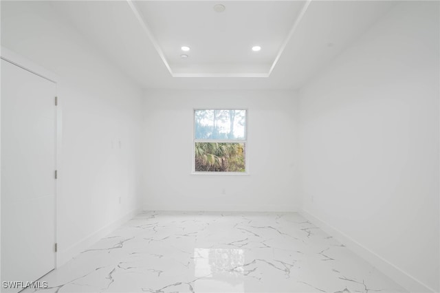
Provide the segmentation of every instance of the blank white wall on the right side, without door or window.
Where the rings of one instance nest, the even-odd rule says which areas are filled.
[[[303,208],[412,292],[438,292],[439,2],[399,3],[299,107]]]

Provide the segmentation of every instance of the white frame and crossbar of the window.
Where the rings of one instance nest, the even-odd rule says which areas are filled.
[[[245,111],[245,139],[244,140],[205,140],[195,138],[195,111],[198,110],[243,110]],[[192,109],[192,175],[249,175],[249,164],[248,164],[248,109],[247,108],[194,108]],[[199,172],[195,171],[195,143],[196,142],[225,142],[225,143],[241,143],[244,144],[245,148],[245,171],[244,172],[220,172],[220,171],[210,171],[210,172]]]

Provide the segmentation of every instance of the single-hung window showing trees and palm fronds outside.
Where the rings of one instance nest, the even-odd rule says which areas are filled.
[[[246,110],[194,111],[195,173],[246,172]]]

